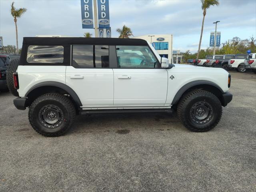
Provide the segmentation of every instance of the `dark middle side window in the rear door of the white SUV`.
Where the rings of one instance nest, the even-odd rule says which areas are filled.
[[[108,46],[73,45],[72,66],[74,68],[108,68]]]

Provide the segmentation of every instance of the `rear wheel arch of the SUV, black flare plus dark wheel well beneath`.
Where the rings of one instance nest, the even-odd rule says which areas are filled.
[[[26,106],[30,106],[30,104],[40,95],[45,93],[60,93],[60,94],[69,94],[74,104],[76,104],[77,109],[82,106],[82,103],[76,94],[76,92],[67,86],[66,84],[55,82],[55,81],[47,81],[41,82],[34,86],[32,86],[28,92],[26,92],[25,97],[28,98],[28,102]]]

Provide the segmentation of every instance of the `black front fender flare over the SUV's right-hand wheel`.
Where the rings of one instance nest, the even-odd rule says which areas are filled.
[[[176,93],[176,95],[174,96],[173,100],[172,100],[172,105],[175,105],[178,103],[178,101],[180,100],[181,96],[184,94],[184,92],[186,92],[186,90],[197,86],[197,85],[211,85],[214,86],[216,88],[218,88],[218,90],[220,90],[220,92],[223,94],[223,90],[220,88],[220,86],[218,86],[216,83],[214,82],[210,82],[207,80],[196,80],[196,81],[192,81],[189,82],[187,84],[185,84],[184,86],[182,86],[182,88],[180,88],[180,90],[178,90],[178,92]]]

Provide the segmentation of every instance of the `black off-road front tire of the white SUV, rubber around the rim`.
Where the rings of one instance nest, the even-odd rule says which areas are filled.
[[[194,121],[191,110],[194,104],[207,102],[212,107],[211,118],[203,124]],[[213,129],[222,116],[222,105],[220,100],[212,93],[205,90],[193,90],[186,93],[180,99],[177,108],[177,116],[182,124],[193,132],[206,132]]]

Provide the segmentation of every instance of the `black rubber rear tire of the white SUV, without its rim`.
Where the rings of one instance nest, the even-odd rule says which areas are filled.
[[[59,125],[53,128],[47,127],[43,122],[40,112],[46,106],[58,108],[62,116]],[[47,110],[46,110],[47,111]],[[28,119],[32,128],[39,134],[46,137],[55,137],[65,134],[70,130],[76,116],[76,109],[73,102],[67,96],[58,93],[47,93],[36,98],[28,111]]]

